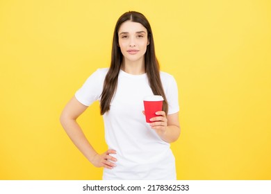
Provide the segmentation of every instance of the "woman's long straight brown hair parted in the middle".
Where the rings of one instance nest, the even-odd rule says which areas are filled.
[[[115,26],[113,35],[113,46],[111,53],[111,63],[106,78],[104,80],[104,89],[101,93],[101,115],[108,112],[110,109],[110,102],[117,89],[117,78],[120,72],[120,67],[122,64],[122,52],[118,46],[119,37],[118,31],[120,26],[124,21],[133,21],[142,24],[147,29],[149,45],[147,46],[147,51],[145,53],[145,71],[149,80],[149,86],[151,87],[154,95],[161,95],[164,98],[163,101],[163,111],[167,114],[168,104],[167,98],[165,97],[165,92],[163,90],[163,85],[160,78],[160,68],[158,60],[156,59],[154,50],[154,38],[151,31],[151,26],[147,18],[140,12],[130,11],[125,12],[118,20]]]

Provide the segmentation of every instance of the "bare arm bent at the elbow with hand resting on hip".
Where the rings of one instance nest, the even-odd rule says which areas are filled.
[[[116,161],[114,157],[109,154],[115,154],[115,150],[107,150],[101,155],[92,148],[92,145],[86,139],[85,134],[81,130],[81,127],[76,122],[76,119],[87,109],[88,107],[79,103],[79,101],[73,97],[69,103],[63,109],[60,116],[60,123],[69,138],[72,140],[74,145],[82,152],[82,154],[96,167],[104,167],[112,169],[115,164],[108,161]]]

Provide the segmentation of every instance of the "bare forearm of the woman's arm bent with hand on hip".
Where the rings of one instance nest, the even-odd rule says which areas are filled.
[[[74,145],[82,152],[82,154],[92,163],[92,159],[97,152],[90,145],[88,139],[86,139],[85,134],[81,130],[81,127],[74,119],[60,119],[60,123],[63,125],[63,128],[69,138],[72,140]]]

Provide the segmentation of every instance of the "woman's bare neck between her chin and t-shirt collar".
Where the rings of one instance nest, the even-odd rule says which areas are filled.
[[[125,71],[126,73],[132,74],[132,75],[140,75],[146,73],[145,71],[145,62],[144,60],[140,62],[131,62],[123,60],[122,62],[122,71]]]

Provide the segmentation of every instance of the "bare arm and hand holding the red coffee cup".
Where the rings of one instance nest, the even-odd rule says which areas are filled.
[[[156,133],[163,141],[167,143],[176,141],[181,133],[179,112],[167,116],[165,116],[165,112],[163,111],[156,112],[156,114],[158,116],[151,118],[151,121],[155,121],[154,123],[150,123],[151,128],[156,130]]]

